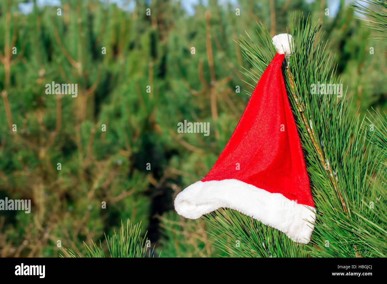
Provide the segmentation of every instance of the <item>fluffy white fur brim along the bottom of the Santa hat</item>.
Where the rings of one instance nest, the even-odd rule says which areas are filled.
[[[221,207],[237,210],[305,244],[310,241],[316,219],[314,207],[236,179],[199,180],[175,198],[176,212],[189,219]]]

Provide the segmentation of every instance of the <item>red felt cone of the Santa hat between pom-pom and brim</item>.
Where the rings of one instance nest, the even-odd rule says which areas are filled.
[[[236,179],[314,207],[281,71],[283,59],[284,54],[277,53],[267,66],[234,133],[202,181]]]

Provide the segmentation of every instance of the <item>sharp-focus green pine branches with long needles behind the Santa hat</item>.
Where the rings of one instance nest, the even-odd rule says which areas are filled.
[[[351,116],[345,95],[313,95],[312,83],[340,83],[330,70],[332,58],[317,36],[321,25],[295,20],[290,33],[295,51],[285,83],[303,146],[317,210],[312,240],[300,245],[282,232],[231,209],[207,215],[216,245],[241,257],[385,257],[386,171],[380,148],[366,138],[361,117]],[[244,55],[255,68],[246,74],[257,82],[274,56],[269,32],[264,44],[241,38]],[[317,107],[319,106],[319,107]],[[379,128],[378,128],[379,129]]]

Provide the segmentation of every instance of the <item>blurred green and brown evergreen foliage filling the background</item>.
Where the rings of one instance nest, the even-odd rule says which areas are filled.
[[[320,19],[351,111],[387,110],[382,45],[340,2],[329,17],[323,0],[209,0],[194,15],[179,1],[137,0],[130,12],[108,1],[34,0],[22,14],[19,1],[3,0],[0,199],[31,199],[32,209],[1,212],[0,256],[58,256],[58,240],[84,255],[83,241],[92,246],[128,218],[142,221],[161,256],[223,255],[205,221],[178,216],[173,199],[210,170],[252,92],[240,35],[260,43],[257,22],[274,36],[295,15]],[[47,95],[52,81],[76,83],[77,97]],[[177,133],[184,120],[210,122],[210,135]]]

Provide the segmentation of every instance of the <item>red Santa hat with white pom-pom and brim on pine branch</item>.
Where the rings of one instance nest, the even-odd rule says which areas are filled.
[[[231,138],[204,179],[176,196],[175,210],[197,219],[227,207],[308,243],[316,211],[281,70],[293,39],[279,34],[272,41],[277,54]]]

